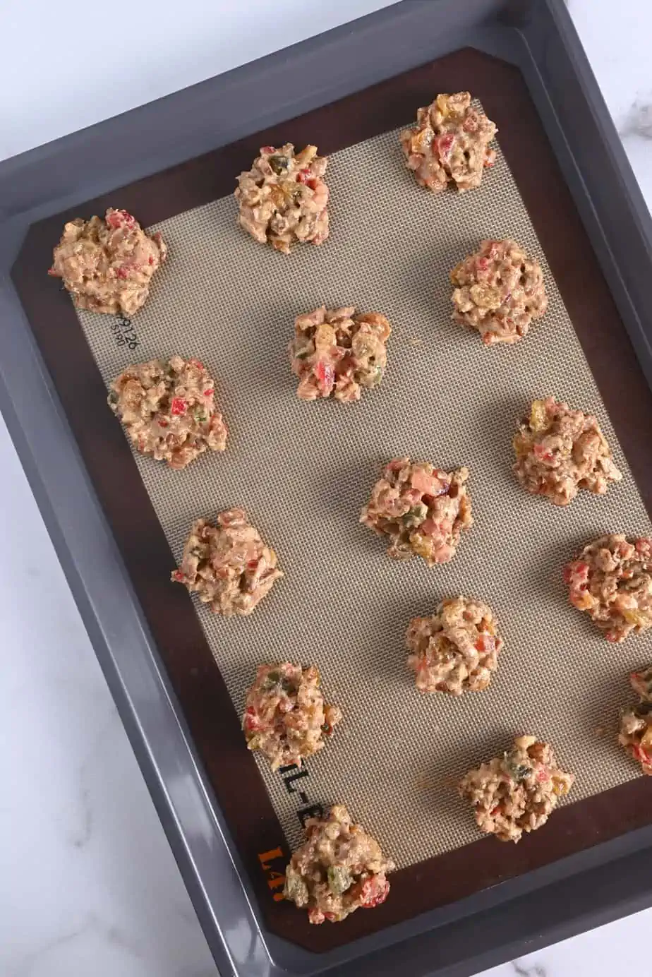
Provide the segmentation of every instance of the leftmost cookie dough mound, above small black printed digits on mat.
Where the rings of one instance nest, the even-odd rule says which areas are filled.
[[[78,217],[63,227],[48,275],[63,279],[79,309],[133,316],[166,254],[160,234],[145,234],[126,210],[109,207],[103,220]]]

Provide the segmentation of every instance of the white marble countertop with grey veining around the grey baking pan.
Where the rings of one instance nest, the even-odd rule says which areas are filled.
[[[181,19],[170,0],[154,17],[149,6],[113,0],[108,35],[106,9],[86,0],[2,5],[0,91],[12,101],[0,107],[0,158],[388,2],[184,0]],[[652,6],[569,6],[652,205]],[[211,977],[212,958],[1,421],[0,467],[0,974]],[[485,977],[650,977],[651,930],[652,910]]]

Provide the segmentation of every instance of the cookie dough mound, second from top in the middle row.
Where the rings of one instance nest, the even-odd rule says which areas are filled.
[[[378,312],[356,313],[353,306],[298,316],[290,343],[292,371],[300,379],[303,401],[333,397],[359,401],[362,388],[377,387],[387,365],[385,344],[391,326]]]

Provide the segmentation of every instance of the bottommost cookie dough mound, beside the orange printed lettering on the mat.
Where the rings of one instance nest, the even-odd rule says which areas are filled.
[[[283,894],[307,909],[312,923],[341,922],[385,902],[393,869],[378,841],[351,821],[344,804],[336,804],[323,818],[306,822],[306,842],[292,856]]]

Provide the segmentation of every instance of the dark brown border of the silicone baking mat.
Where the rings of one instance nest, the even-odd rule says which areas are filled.
[[[102,214],[117,204],[135,213],[143,226],[156,224],[230,193],[235,175],[248,169],[260,146],[316,143],[321,152],[331,153],[409,122],[417,107],[427,105],[437,92],[466,89],[498,124],[501,149],[651,512],[652,393],[520,72],[480,52],[464,49],[448,55],[48,218],[30,228],[12,272],[266,924],[314,952],[332,950],[648,824],[652,778],[640,777],[562,807],[543,831],[519,845],[482,838],[397,871],[387,903],[373,913],[353,913],[337,926],[310,926],[306,913],[274,901],[287,843],[190,598],[169,584],[175,567],[172,553],[122,430],[106,409],[102,377],[72,304],[46,271],[62,224],[80,213]],[[152,573],[152,567],[159,571]],[[267,859],[261,859],[265,853]]]

